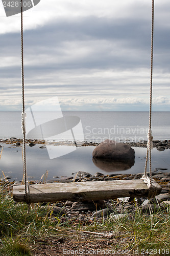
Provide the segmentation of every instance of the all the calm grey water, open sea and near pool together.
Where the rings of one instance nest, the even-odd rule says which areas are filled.
[[[0,139],[22,138],[21,112],[0,112]],[[52,129],[53,126],[53,129]],[[102,142],[106,139],[118,142],[147,140],[149,126],[148,112],[62,112],[58,113],[28,113],[26,117],[26,132],[29,139],[45,139],[57,143],[58,141],[77,141],[75,146],[48,146],[36,144],[26,146],[27,174],[30,180],[40,180],[48,173],[47,179],[54,177],[75,177],[79,171],[94,174],[136,174],[142,173],[145,164],[146,148],[133,147],[135,163],[127,168],[105,168],[96,164],[92,159],[94,146],[81,147],[81,142]],[[28,129],[28,131],[27,131]],[[152,135],[154,140],[170,139],[170,112],[152,113]],[[37,137],[36,137],[37,136]],[[12,144],[1,144],[0,177],[11,176],[11,180],[21,180],[22,147]],[[57,144],[56,144],[57,145]],[[40,148],[40,146],[43,146]],[[54,150],[55,149],[55,150]],[[169,150],[159,152],[154,148],[152,152],[152,168],[170,169]]]

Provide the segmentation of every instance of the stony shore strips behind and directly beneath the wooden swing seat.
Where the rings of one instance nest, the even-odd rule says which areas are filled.
[[[5,139],[5,140],[1,140],[1,143],[6,143],[6,144],[13,144],[14,146],[18,147],[22,145],[22,140],[21,139],[17,139],[15,137],[12,137],[10,139]],[[45,141],[40,141],[40,140],[27,140],[26,141],[27,145],[29,145],[30,147],[34,146],[35,144],[44,144],[45,146]],[[64,142],[50,142],[53,143],[54,145],[75,145],[74,142],[70,142],[70,141],[64,141]],[[147,141],[141,141],[141,142],[126,142],[127,144],[129,144],[130,146],[137,146],[137,147],[147,147]],[[92,142],[84,142],[84,143],[80,143],[81,146],[97,146],[99,145],[99,143],[92,143]],[[79,143],[76,144],[77,146],[79,146]],[[164,151],[164,150],[168,150],[170,148],[170,141],[169,140],[165,140],[165,141],[153,141],[153,145],[154,147],[157,148],[158,151]],[[75,172],[71,174],[72,176],[68,177],[68,176],[55,176],[54,180],[47,180],[46,182],[90,182],[90,181],[109,181],[109,180],[129,180],[129,179],[140,179],[141,176],[143,175],[142,173],[138,173],[138,174],[116,174],[115,172],[113,174],[102,174],[100,172],[95,173],[95,175],[91,175],[90,173],[87,172]],[[166,204],[170,203],[170,198],[169,198],[169,187],[170,187],[170,173],[168,172],[167,168],[161,168],[161,167],[157,167],[155,168],[155,170],[153,170],[152,172],[152,178],[158,183],[160,184],[160,186],[162,187],[162,191],[161,191],[161,196],[157,196],[157,199],[160,200],[155,200],[153,201],[154,203],[156,203],[157,207],[160,206],[159,202],[161,201],[167,201],[165,202]],[[10,182],[10,180],[12,179],[12,177],[10,176],[6,176],[6,177],[2,177],[1,179],[1,186],[7,186],[10,185],[10,187],[12,188],[15,185],[21,184],[22,181],[12,181]],[[42,181],[41,181],[42,182]],[[30,184],[38,184],[40,183],[40,181],[30,181]],[[142,207],[143,210],[148,210],[151,208],[153,208],[152,206],[152,201],[148,202],[146,201],[147,199],[136,199],[136,202],[140,205],[140,207]],[[121,202],[123,202],[123,205],[121,204]],[[148,202],[148,204],[147,204]],[[126,199],[126,201],[124,199],[118,199],[118,201],[115,202],[116,204],[116,211],[121,213],[124,213],[125,209],[129,209],[131,214],[133,213],[133,211],[135,210],[135,201],[134,199],[132,200],[131,198]],[[121,206],[122,205],[122,206]],[[61,207],[62,208],[59,208]],[[106,208],[104,207],[106,206]],[[100,208],[100,211],[98,213],[96,213],[96,206],[94,203],[83,203],[83,202],[63,202],[63,203],[59,203],[58,204],[58,208],[56,208],[56,210],[58,209],[58,212],[61,210],[62,215],[63,215],[63,207],[64,207],[64,214],[68,215],[68,218],[72,218],[75,215],[80,215],[80,214],[85,214],[88,216],[90,216],[90,218],[93,217],[107,217],[108,214],[113,214],[113,209],[111,206],[111,201],[107,201],[105,203],[102,202],[102,211],[101,211],[101,202],[99,203],[98,207]],[[122,208],[123,207],[123,208]],[[161,204],[161,207],[164,207],[164,204]],[[125,208],[125,209],[124,209]],[[106,210],[107,209],[107,210]],[[109,210],[112,209],[112,210]],[[56,211],[54,211],[55,214]],[[103,214],[101,213],[103,212]],[[89,215],[90,213],[90,215]],[[62,217],[63,218],[63,217]],[[83,216],[81,215],[81,218],[83,218]],[[63,219],[64,220],[64,219]]]

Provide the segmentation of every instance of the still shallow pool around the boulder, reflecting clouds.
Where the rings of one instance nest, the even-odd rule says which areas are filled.
[[[14,180],[22,179],[22,150],[21,147],[14,147],[12,145],[2,144],[3,152],[1,155],[0,165],[1,170],[5,175],[12,176]],[[48,157],[46,148],[39,148],[40,145],[34,147],[27,146],[27,173],[30,180],[39,180],[40,177],[48,170],[48,179],[53,179],[53,176],[73,176],[79,170],[94,174],[101,172],[103,174],[111,173],[126,173],[137,174],[143,173],[145,164],[146,148],[133,147],[135,150],[135,163],[124,170],[119,170],[119,164],[109,170],[106,164],[100,163],[95,165],[92,161],[93,146],[80,147],[78,150],[67,155],[51,159]],[[157,151],[155,148],[152,151],[152,169],[154,168],[167,168],[170,172],[170,150],[163,152]],[[103,168],[106,167],[107,169]],[[121,166],[122,167],[122,166]],[[0,175],[2,172],[0,170]]]

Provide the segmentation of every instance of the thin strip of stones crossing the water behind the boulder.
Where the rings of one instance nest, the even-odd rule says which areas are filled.
[[[147,147],[147,141],[140,141],[140,142],[134,142],[134,141],[119,141],[122,143],[127,143],[132,147]],[[0,143],[6,143],[6,144],[13,144],[18,146],[18,143],[22,144],[23,140],[22,139],[17,139],[15,137],[9,138],[9,139],[0,139]],[[46,145],[54,145],[54,146],[59,146],[59,145],[65,145],[65,146],[98,146],[100,143],[97,142],[73,142],[73,141],[46,141],[45,140],[37,140],[37,139],[26,139],[26,143],[34,143],[34,144],[46,144]],[[153,146],[157,148],[157,150],[163,151],[170,149],[170,140],[153,140]]]

